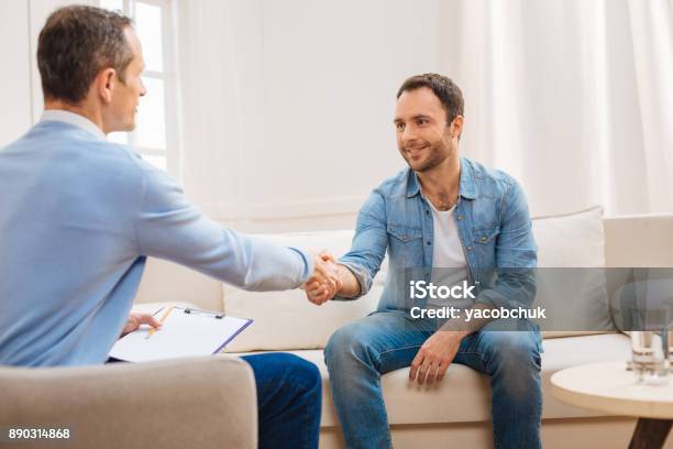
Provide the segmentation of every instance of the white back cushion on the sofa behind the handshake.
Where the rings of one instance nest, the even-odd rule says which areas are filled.
[[[339,258],[351,249],[353,233],[354,231],[349,230],[257,237],[284,247],[316,252],[327,250]],[[387,261],[376,275],[367,295],[357,300],[332,300],[322,306],[309,303],[300,289],[255,293],[225,285],[224,311],[231,316],[254,320],[225,351],[324,348],[336,329],[376,309],[383,292],[386,267]]]

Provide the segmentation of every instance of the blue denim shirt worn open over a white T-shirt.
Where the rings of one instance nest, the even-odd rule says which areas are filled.
[[[459,201],[453,210],[475,303],[530,307],[536,295],[537,247],[526,197],[500,171],[461,158]],[[339,262],[365,295],[388,252],[389,271],[378,310],[408,310],[409,280],[430,281],[433,222],[430,205],[408,167],[372,191],[362,206],[351,250]],[[336,297],[335,299],[353,299]]]

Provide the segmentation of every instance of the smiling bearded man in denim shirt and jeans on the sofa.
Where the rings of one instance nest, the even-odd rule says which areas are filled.
[[[382,374],[411,365],[410,382],[433,383],[455,362],[489,375],[495,446],[539,448],[537,327],[525,319],[464,319],[467,310],[526,308],[534,298],[537,249],[521,187],[503,172],[459,157],[463,97],[444,76],[402,84],[395,128],[409,167],[374,189],[360,210],[351,251],[338,261],[336,299],[354,299],[369,291],[386,250],[389,255],[377,311],[339,329],[326,348],[346,445],[390,447]],[[410,314],[413,307],[437,311],[459,304],[413,299],[415,280],[473,286],[460,305],[463,315]],[[307,295],[315,304],[331,299],[318,284],[309,283]]]

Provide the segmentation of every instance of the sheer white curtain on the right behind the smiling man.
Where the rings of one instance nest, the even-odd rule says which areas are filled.
[[[442,69],[467,155],[537,215],[673,211],[673,1],[448,1]]]

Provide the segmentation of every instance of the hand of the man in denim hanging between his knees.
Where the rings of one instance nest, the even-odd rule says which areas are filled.
[[[438,330],[418,350],[409,380],[418,381],[420,385],[428,382],[439,382],[444,379],[444,374],[461,346],[461,340],[467,332],[457,330]]]

